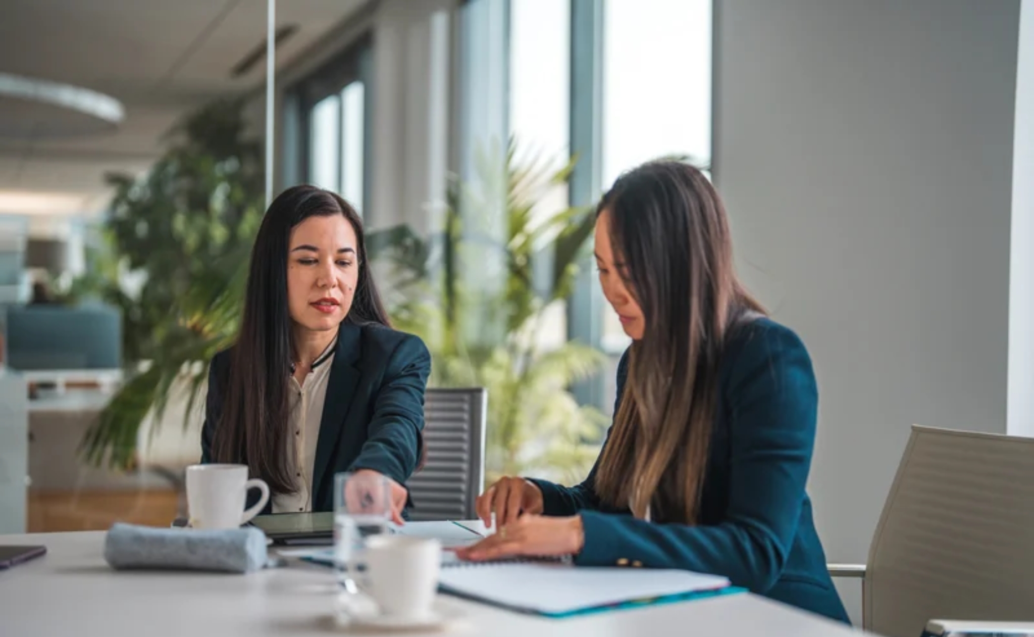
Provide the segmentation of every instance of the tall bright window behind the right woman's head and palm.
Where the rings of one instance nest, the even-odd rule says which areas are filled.
[[[649,159],[682,157],[705,168],[711,4],[468,0],[460,60],[464,173],[477,141],[501,134],[513,135],[524,153],[553,160],[573,154],[570,188],[543,203],[548,212],[595,203],[622,172]],[[582,270],[545,337],[577,339],[609,355],[610,367],[598,380],[575,388],[579,402],[609,411],[614,368],[629,339],[602,298],[590,259]]]

